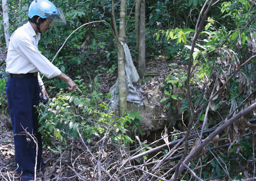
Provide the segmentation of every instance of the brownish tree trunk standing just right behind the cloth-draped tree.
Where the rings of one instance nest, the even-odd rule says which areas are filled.
[[[139,75],[141,78],[145,76],[145,0],[141,0],[140,4],[140,43],[139,43]]]

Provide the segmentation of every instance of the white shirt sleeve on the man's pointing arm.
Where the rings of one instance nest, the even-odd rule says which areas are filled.
[[[47,78],[53,78],[61,74],[61,70],[42,55],[26,36],[17,35],[15,45],[17,46],[16,51]]]

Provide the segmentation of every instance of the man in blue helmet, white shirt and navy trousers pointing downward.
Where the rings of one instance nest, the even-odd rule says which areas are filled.
[[[29,6],[29,22],[18,28],[11,36],[6,59],[6,72],[10,76],[6,84],[6,95],[12,119],[15,144],[15,163],[22,181],[34,179],[35,164],[39,170],[45,166],[41,160],[42,141],[38,133],[39,93],[48,97],[39,72],[47,78],[65,80],[69,91],[81,90],[73,80],[62,73],[38,50],[40,34],[52,25],[64,25],[66,20],[61,9],[49,0],[33,0]],[[25,134],[29,132],[34,136]],[[35,144],[38,144],[37,146]]]

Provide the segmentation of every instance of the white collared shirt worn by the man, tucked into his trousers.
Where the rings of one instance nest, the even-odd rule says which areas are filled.
[[[28,22],[15,30],[10,38],[6,72],[12,74],[26,74],[41,72],[47,78],[53,78],[61,74],[61,70],[54,66],[38,50],[40,34],[35,33]],[[39,86],[44,85],[38,73]]]

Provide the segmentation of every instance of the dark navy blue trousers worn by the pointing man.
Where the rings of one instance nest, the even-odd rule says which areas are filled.
[[[34,179],[35,159],[40,169],[42,155],[42,139],[38,132],[39,85],[37,77],[8,78],[6,95],[12,119],[15,144],[15,163],[17,173],[22,181]],[[25,133],[33,135],[38,144]]]

